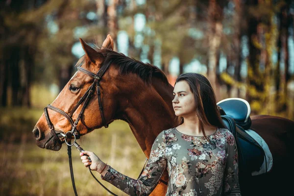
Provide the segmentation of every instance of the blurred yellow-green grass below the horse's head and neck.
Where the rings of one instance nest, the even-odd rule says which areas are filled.
[[[55,152],[35,145],[31,131],[42,113],[42,109],[0,109],[0,196],[73,195],[67,147]],[[138,177],[145,163],[143,151],[123,121],[83,136],[78,144],[133,178]],[[72,153],[78,195],[110,195],[83,166],[79,152],[73,148]],[[98,173],[94,174],[99,180]],[[103,180],[99,181],[117,195],[126,195]]]

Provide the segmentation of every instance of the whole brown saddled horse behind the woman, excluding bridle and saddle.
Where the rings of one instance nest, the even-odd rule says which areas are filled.
[[[98,96],[95,91],[84,112],[82,104],[75,107],[88,92],[89,87],[91,88],[93,81],[95,82],[89,74],[78,71],[51,105],[70,114],[72,120],[79,118],[79,113],[83,112],[80,115],[80,121],[76,124],[79,135],[85,135],[118,119],[127,122],[148,158],[155,137],[162,130],[177,125],[172,108],[172,85],[157,67],[113,51],[113,40],[109,35],[101,49],[95,50],[82,40],[80,42],[86,53],[78,62],[83,69],[95,74],[102,65],[109,64],[104,75],[99,78],[101,94]],[[97,101],[99,97],[101,105]],[[75,112],[72,112],[73,108],[76,108]],[[61,144],[56,134],[71,131],[72,125],[59,112],[48,110],[47,115],[54,126],[54,129],[51,128],[54,133],[50,131],[48,120],[43,113],[33,130],[36,144],[41,148],[59,150]],[[282,185],[289,182],[284,177],[287,177],[291,170],[285,171],[285,166],[288,166],[285,161],[289,161],[290,158],[290,151],[287,151],[290,145],[287,145],[293,135],[294,122],[272,116],[254,116],[251,119],[254,130],[268,143],[274,164],[267,174],[248,177],[243,185],[242,191],[245,193],[243,195],[286,193],[284,190],[290,187]],[[167,171],[162,180],[164,182],[159,182],[151,195],[165,195],[167,189],[165,182],[168,182]],[[251,187],[252,189],[248,191]]]

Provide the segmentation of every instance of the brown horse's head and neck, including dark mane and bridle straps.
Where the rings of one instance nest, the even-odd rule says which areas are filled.
[[[173,87],[167,77],[156,66],[113,51],[110,35],[101,49],[80,43],[85,55],[36,123],[36,144],[57,151],[66,142],[64,134],[79,137],[120,119],[130,125],[148,155],[157,134],[174,125]]]

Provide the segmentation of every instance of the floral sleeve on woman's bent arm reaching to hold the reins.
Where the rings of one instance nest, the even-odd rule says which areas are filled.
[[[156,187],[166,167],[165,138],[162,131],[155,139],[146,168],[138,179],[133,179],[109,166],[103,180],[130,196],[147,196]]]

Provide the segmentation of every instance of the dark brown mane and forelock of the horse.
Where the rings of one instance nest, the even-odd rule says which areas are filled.
[[[169,84],[167,76],[157,66],[151,65],[149,63],[143,63],[142,61],[130,58],[128,56],[125,56],[123,53],[116,52],[112,49],[99,49],[96,45],[94,49],[98,53],[103,55],[103,57],[105,58],[104,63],[107,63],[109,65],[115,64],[116,66],[118,66],[119,72],[121,74],[136,73],[147,84],[151,83],[151,79],[154,76],[156,78],[161,79],[165,84]],[[78,60],[76,65],[89,62],[90,60],[86,58],[86,55],[83,55]]]

